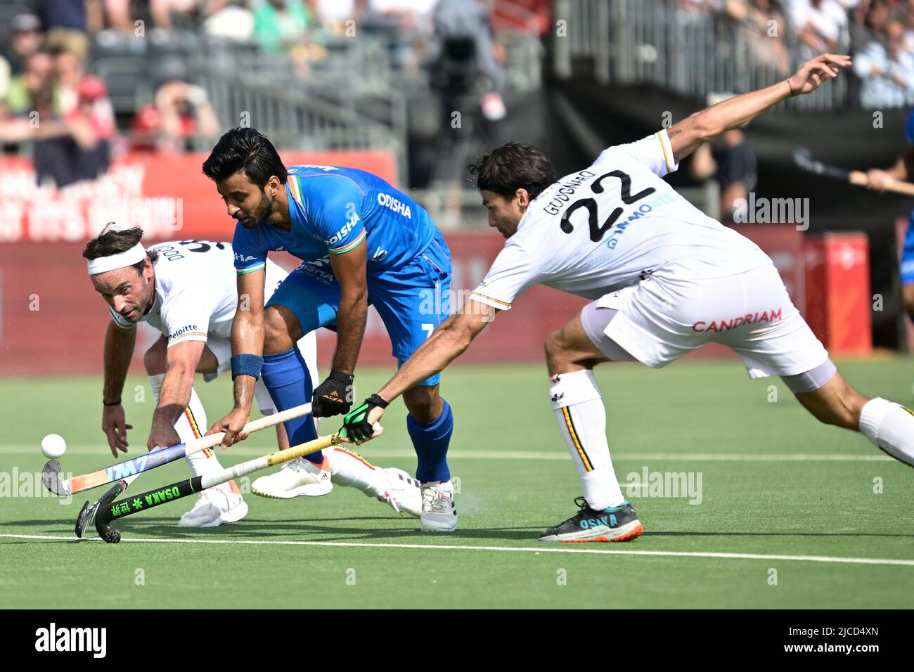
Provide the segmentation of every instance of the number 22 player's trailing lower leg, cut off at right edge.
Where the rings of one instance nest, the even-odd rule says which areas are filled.
[[[794,394],[819,421],[859,431],[895,459],[914,466],[914,412],[908,408],[864,397],[837,371],[822,387],[808,392],[794,389]]]

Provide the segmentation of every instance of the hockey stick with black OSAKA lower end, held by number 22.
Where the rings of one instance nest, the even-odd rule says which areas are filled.
[[[111,522],[114,518],[130,516],[138,511],[145,511],[167,502],[174,502],[175,499],[180,499],[181,497],[195,495],[214,485],[225,483],[232,478],[240,478],[260,469],[288,462],[296,457],[316,453],[337,443],[342,443],[338,433],[320,436],[313,441],[300,443],[297,446],[292,446],[292,448],[286,448],[276,453],[256,457],[248,462],[236,464],[213,475],[194,476],[186,481],[178,481],[172,485],[158,487],[137,496],[125,497],[117,502],[112,501],[118,495],[112,489],[105,497],[99,500],[99,509],[95,516],[95,530],[99,533],[101,539],[104,539],[109,544],[116,544],[121,541],[121,533],[111,527]]]

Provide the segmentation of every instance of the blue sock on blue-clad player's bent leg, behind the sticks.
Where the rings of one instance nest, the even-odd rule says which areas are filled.
[[[263,368],[260,371],[263,384],[270,391],[271,399],[277,411],[286,411],[301,406],[311,400],[314,386],[311,375],[304,364],[302,354],[297,347],[276,355],[263,356]],[[309,413],[301,418],[294,418],[282,423],[289,435],[289,445],[294,446],[317,438],[314,429],[314,418]],[[318,451],[305,455],[305,459],[314,464],[324,463],[324,453]]]

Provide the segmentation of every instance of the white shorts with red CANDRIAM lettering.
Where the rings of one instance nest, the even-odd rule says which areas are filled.
[[[732,349],[750,378],[795,376],[828,358],[771,264],[720,278],[648,275],[585,311],[593,306],[618,311],[603,336],[653,368],[706,343]]]

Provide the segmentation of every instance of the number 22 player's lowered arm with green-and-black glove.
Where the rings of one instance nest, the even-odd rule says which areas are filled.
[[[346,441],[361,444],[380,436],[383,430],[376,432],[373,426],[384,415],[388,403],[422,380],[440,373],[460,357],[470,347],[473,338],[492,322],[495,312],[493,307],[471,299],[462,313],[452,315],[441,323],[387,385],[345,416]]]

